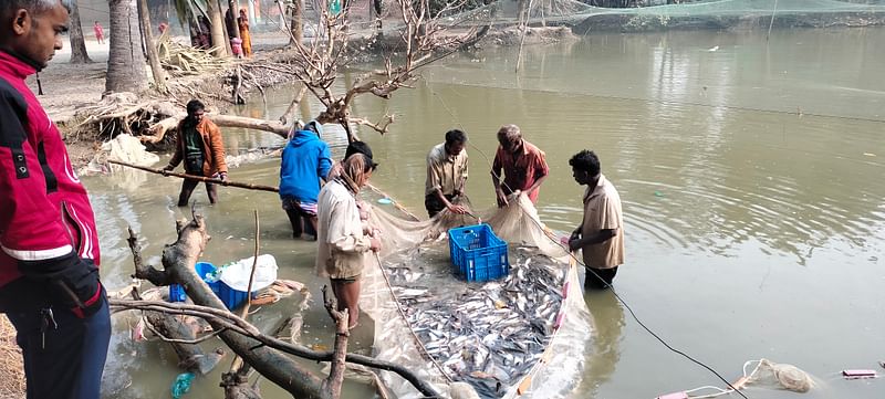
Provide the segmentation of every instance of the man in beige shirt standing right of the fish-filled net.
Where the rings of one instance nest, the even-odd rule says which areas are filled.
[[[584,286],[604,290],[612,285],[617,266],[624,263],[624,218],[621,196],[602,174],[596,154],[583,150],[569,160],[574,181],[587,186],[584,219],[569,239],[571,251],[582,250],[587,273]]]

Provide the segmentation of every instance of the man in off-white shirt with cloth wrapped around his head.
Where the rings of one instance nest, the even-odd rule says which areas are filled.
[[[329,275],[339,311],[347,309],[350,329],[358,323],[365,255],[381,250],[381,240],[366,234],[356,206],[360,189],[376,167],[365,155],[351,156],[342,162],[341,174],[320,190],[316,270]]]

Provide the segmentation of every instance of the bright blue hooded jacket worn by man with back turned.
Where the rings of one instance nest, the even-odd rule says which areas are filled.
[[[320,125],[317,129],[322,133]],[[280,166],[280,198],[291,197],[300,202],[316,203],[320,178],[332,169],[332,154],[319,133],[298,130],[283,149]]]

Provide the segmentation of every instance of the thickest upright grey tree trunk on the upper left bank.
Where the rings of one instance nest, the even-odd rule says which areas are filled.
[[[111,51],[107,54],[108,92],[140,93],[147,74],[140,49],[138,10],[135,0],[108,0],[111,9]]]

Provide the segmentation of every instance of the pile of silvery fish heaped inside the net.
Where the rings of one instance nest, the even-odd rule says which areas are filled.
[[[514,253],[516,252],[516,256]],[[450,273],[387,266],[413,330],[454,380],[500,398],[538,363],[560,322],[566,266],[530,248],[510,253],[510,274],[464,283]]]

